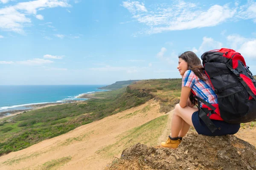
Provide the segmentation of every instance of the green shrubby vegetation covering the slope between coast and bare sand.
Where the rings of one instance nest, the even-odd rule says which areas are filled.
[[[127,88],[95,94],[104,99],[56,105],[4,118],[0,120],[0,155],[67,133],[81,125],[141,105],[152,98],[160,102],[160,111],[167,113],[179,101],[177,94],[180,89],[181,79],[143,80]],[[147,112],[149,109],[150,106],[146,106],[142,111]],[[137,112],[127,117],[135,114]],[[73,140],[80,139],[70,139],[67,144]]]

